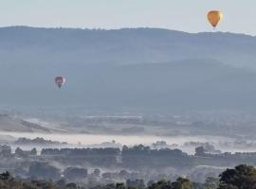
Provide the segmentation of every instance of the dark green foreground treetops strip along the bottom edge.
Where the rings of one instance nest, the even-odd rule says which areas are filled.
[[[84,173],[83,173],[84,174]],[[86,173],[85,173],[86,174]],[[227,169],[218,179],[209,178],[205,183],[193,183],[191,180],[178,178],[177,180],[149,181],[146,186],[143,180],[127,180],[126,183],[109,183],[96,187],[83,187],[65,180],[55,183],[47,180],[17,180],[9,172],[0,174],[0,188],[2,189],[256,189],[256,169],[253,166],[241,164],[233,169]]]

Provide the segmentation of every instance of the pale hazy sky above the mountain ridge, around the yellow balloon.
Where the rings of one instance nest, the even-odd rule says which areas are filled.
[[[256,35],[256,0],[0,0],[0,26],[163,27],[211,31],[206,14],[224,12],[221,31]]]

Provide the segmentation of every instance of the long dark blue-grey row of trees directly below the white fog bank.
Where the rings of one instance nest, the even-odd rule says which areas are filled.
[[[248,163],[256,165],[256,153],[207,153],[204,147],[196,147],[194,155],[188,155],[180,149],[160,148],[152,149],[149,146],[123,146],[121,149],[106,148],[44,148],[38,153],[35,148],[30,151],[16,148],[11,152],[10,146],[0,146],[0,155],[4,157],[33,157],[34,161],[46,160],[59,163],[78,164],[91,163],[101,166],[122,165],[129,168],[143,166],[150,167],[187,167],[197,165],[234,166]]]

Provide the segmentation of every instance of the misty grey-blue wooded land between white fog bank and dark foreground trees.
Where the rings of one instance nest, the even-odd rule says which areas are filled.
[[[197,147],[194,155],[179,149],[123,146],[120,148],[36,148],[23,150],[0,146],[0,168],[23,180],[66,180],[87,186],[126,180],[176,180],[183,176],[203,183],[217,178],[225,167],[247,163],[256,165],[256,153],[210,154]],[[139,182],[139,181],[138,181]],[[137,185],[137,183],[132,184]]]

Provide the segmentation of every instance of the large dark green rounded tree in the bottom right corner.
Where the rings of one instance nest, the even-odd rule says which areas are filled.
[[[220,175],[219,189],[256,189],[256,169],[240,164]]]

